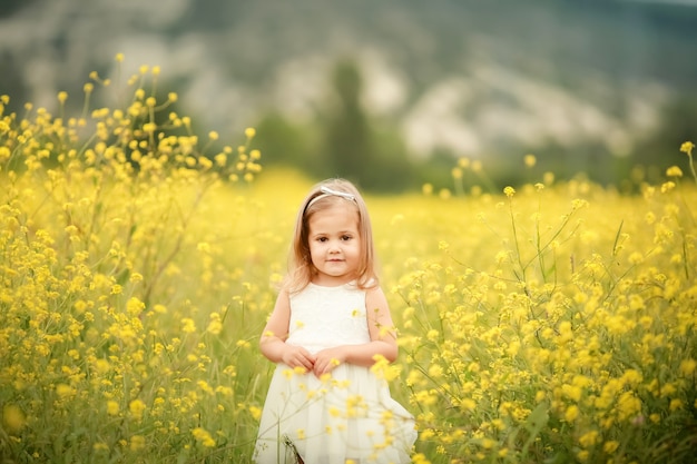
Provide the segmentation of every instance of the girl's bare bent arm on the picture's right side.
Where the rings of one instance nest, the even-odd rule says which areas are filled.
[[[332,372],[342,363],[370,367],[375,364],[375,355],[384,356],[390,363],[396,359],[396,332],[387,298],[380,287],[367,290],[365,307],[371,342],[363,345],[344,345],[321,351],[316,354],[314,362],[316,376]]]

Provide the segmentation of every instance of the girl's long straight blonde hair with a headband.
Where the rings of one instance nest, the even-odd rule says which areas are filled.
[[[327,194],[327,191],[331,191]],[[310,255],[308,228],[310,218],[317,211],[323,211],[338,201],[350,201],[359,214],[359,234],[361,236],[361,257],[356,285],[359,288],[371,288],[377,285],[375,273],[375,249],[373,230],[367,207],[359,189],[345,179],[327,179],[316,184],[301,204],[295,219],[295,231],[291,245],[288,259],[288,275],[284,287],[289,293],[301,292],[311,282],[316,273]]]

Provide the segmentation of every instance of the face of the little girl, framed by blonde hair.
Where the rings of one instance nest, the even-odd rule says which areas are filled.
[[[359,211],[341,201],[315,213],[308,220],[310,257],[317,269],[313,283],[324,286],[347,284],[357,277],[361,261]]]

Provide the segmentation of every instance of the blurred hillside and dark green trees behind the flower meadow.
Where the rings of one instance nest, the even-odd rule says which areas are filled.
[[[459,158],[495,186],[553,171],[630,189],[697,139],[693,0],[0,1],[10,110],[66,90],[77,113],[117,52],[126,78],[160,66],[199,134],[255,127],[265,169],[374,191],[449,187]]]

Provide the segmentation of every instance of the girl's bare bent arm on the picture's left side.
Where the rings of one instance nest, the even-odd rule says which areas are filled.
[[[314,356],[302,346],[285,343],[291,324],[291,299],[284,289],[276,298],[274,310],[264,327],[259,339],[262,354],[274,363],[285,363],[289,367],[304,367],[308,372],[314,367]]]

